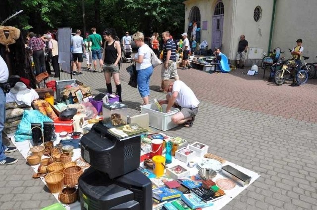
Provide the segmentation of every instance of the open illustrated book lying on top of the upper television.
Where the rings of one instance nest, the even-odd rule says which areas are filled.
[[[110,128],[108,129],[108,132],[118,138],[126,138],[128,136],[148,132],[148,130],[139,126],[138,124],[132,123],[124,126]]]

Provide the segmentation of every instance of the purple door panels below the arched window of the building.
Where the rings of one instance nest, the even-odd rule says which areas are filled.
[[[223,14],[212,17],[211,47],[221,47],[223,34]]]

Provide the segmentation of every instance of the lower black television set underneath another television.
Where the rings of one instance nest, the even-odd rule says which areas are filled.
[[[92,167],[79,178],[81,210],[151,210],[152,183],[139,170],[115,179]]]

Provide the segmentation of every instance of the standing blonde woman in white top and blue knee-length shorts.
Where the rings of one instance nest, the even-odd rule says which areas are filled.
[[[143,99],[143,104],[149,104],[150,96],[150,78],[153,73],[151,64],[151,49],[144,43],[144,35],[137,32],[132,36],[135,44],[139,47],[138,53],[135,54],[133,61],[136,62],[138,71],[138,89]]]

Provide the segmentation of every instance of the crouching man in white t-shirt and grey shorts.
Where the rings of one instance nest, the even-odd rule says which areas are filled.
[[[172,106],[180,109],[180,112],[172,116],[173,123],[185,124],[185,127],[193,126],[199,105],[193,90],[180,80],[165,81],[163,89],[167,92],[166,100],[160,100],[159,104],[167,104],[166,113],[171,111]]]

